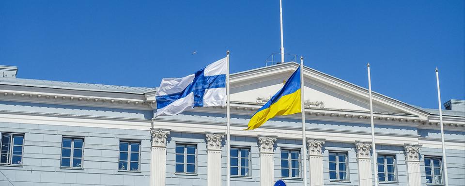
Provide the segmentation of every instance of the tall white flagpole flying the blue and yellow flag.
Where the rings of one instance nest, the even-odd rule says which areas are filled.
[[[307,186],[307,144],[305,135],[305,105],[304,105],[304,57],[300,56],[300,107],[302,109],[302,158],[304,186]]]

